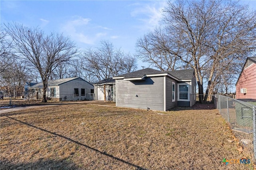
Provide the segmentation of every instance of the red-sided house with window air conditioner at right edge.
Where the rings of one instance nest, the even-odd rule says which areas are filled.
[[[236,99],[256,99],[256,57],[248,57],[236,82]]]

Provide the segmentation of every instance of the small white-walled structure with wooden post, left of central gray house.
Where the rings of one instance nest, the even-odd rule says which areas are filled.
[[[94,95],[94,100],[116,101],[116,80],[106,78],[95,83]]]

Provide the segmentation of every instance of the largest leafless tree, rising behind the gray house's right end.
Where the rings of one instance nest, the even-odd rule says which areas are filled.
[[[220,80],[224,68],[225,72],[236,74],[230,70],[234,67],[241,70],[245,59],[256,49],[256,12],[237,1],[169,1],[162,21],[170,45],[168,50],[160,51],[168,51],[176,56],[174,61],[179,59],[183,63],[178,66],[175,63],[173,68],[180,65],[194,68],[199,94],[204,94],[206,87],[204,98],[200,95],[201,102],[213,93],[214,78]],[[159,37],[158,33],[154,35]],[[147,39],[150,37],[146,35]],[[228,67],[219,69],[221,62]],[[156,67],[159,65],[154,63]]]

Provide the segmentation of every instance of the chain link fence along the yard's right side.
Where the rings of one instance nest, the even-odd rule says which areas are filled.
[[[219,94],[215,98],[220,115],[230,124],[234,135],[248,152],[254,153],[256,161],[256,106]]]

